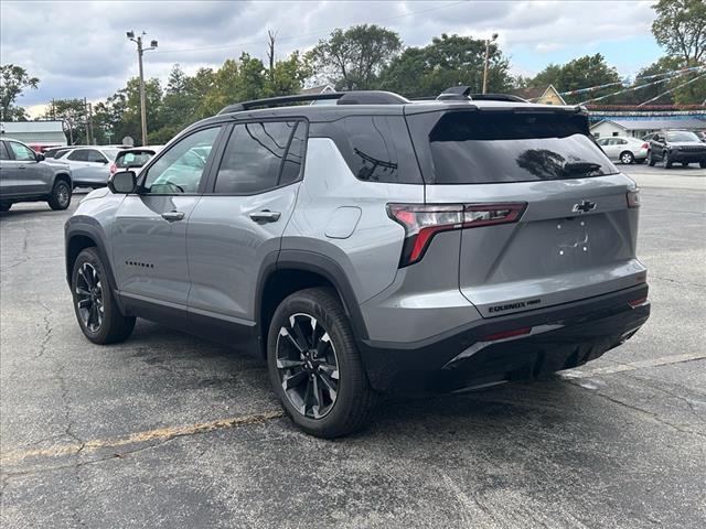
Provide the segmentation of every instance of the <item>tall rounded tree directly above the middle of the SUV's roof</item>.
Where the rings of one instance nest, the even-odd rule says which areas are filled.
[[[399,35],[374,24],[335,30],[309,52],[313,67],[336,89],[367,90],[377,74],[402,50]]]

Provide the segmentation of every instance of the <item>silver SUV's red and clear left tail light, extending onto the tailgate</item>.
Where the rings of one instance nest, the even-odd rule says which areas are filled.
[[[440,231],[516,223],[526,202],[506,204],[387,204],[389,218],[405,228],[399,268],[418,262]]]

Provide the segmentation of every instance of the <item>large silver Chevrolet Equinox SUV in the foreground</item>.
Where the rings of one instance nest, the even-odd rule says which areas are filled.
[[[137,316],[238,344],[324,438],[381,393],[536,378],[620,345],[650,313],[634,182],[582,108],[459,91],[232,105],[117,172],[66,223],[84,334],[119,342]],[[312,99],[329,105],[290,105]]]

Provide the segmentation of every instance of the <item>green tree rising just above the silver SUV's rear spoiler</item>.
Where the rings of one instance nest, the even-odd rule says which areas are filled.
[[[569,91],[619,82],[620,75],[618,75],[618,71],[608,66],[606,57],[597,53],[596,55],[585,55],[575,58],[564,65],[549,64],[530,82],[530,86],[544,87],[554,85],[558,91]],[[565,96],[564,99],[568,104],[575,104],[589,98],[608,95],[611,91],[618,91],[618,89],[620,89],[620,85],[613,85],[600,90]],[[601,102],[609,104],[611,99],[605,99]]]

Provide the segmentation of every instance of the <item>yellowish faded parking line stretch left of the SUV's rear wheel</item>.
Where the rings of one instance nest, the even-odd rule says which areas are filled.
[[[84,443],[60,444],[46,449],[15,450],[0,456],[0,465],[12,465],[31,457],[56,457],[61,455],[75,455],[95,452],[100,449],[126,446],[130,444],[146,443],[148,441],[168,441],[170,439],[193,435],[197,433],[213,432],[216,430],[227,430],[245,424],[258,424],[272,419],[284,417],[280,410],[266,411],[263,413],[252,413],[249,415],[234,417],[231,419],[220,419],[211,422],[197,422],[181,427],[165,427],[145,432],[132,433],[122,438],[96,439]]]

